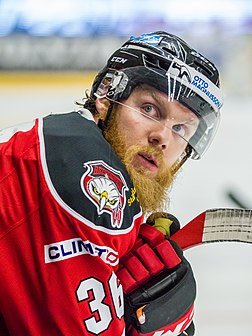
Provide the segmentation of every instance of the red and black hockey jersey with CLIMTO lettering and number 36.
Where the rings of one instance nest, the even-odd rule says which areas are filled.
[[[77,112],[0,132],[0,335],[123,335],[114,271],[143,220],[125,167]]]

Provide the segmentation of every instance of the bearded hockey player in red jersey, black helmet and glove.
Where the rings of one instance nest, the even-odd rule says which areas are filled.
[[[191,267],[142,223],[221,105],[215,66],[155,32],[115,51],[79,111],[0,133],[0,335],[194,334]]]

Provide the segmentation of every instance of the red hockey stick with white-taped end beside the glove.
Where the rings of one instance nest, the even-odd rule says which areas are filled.
[[[214,242],[252,243],[252,210],[209,209],[171,236],[183,249]]]

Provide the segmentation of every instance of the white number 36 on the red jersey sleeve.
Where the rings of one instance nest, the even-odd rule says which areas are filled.
[[[112,273],[108,283],[116,316],[120,319],[124,314],[122,286],[117,284],[115,273]],[[93,314],[99,314],[99,320],[95,316],[92,316],[84,320],[84,323],[88,331],[99,334],[109,327],[112,321],[112,314],[110,307],[103,302],[106,297],[103,283],[95,278],[81,281],[76,292],[78,301],[90,299],[90,291],[93,293],[93,299],[88,304]]]

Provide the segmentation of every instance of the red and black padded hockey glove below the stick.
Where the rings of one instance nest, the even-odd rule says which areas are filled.
[[[194,335],[193,272],[182,250],[162,232],[142,224],[133,249],[120,262],[117,276],[125,294],[127,335],[154,336],[168,331]]]

